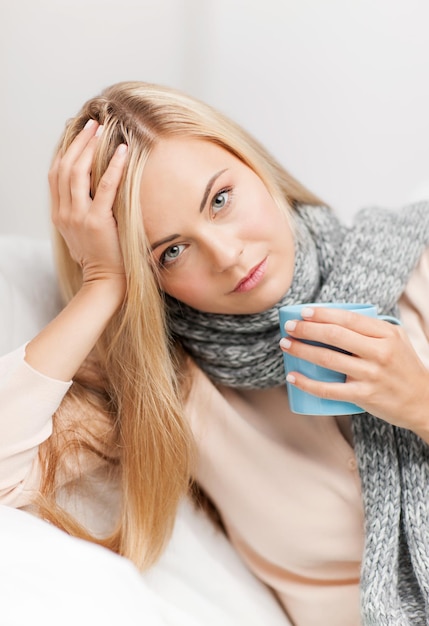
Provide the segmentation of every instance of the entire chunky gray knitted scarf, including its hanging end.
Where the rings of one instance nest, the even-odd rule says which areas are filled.
[[[216,383],[284,384],[278,347],[284,304],[364,301],[397,315],[398,299],[429,245],[429,203],[395,212],[366,209],[351,227],[324,207],[300,206],[295,219],[294,279],[272,309],[207,314],[167,298],[172,334]],[[429,624],[429,446],[368,413],[352,422],[366,520],[362,623]]]

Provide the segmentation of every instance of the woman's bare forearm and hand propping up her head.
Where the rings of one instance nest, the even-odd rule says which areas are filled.
[[[93,122],[59,154],[49,172],[52,220],[72,258],[81,265],[82,288],[28,343],[26,360],[46,376],[69,381],[121,306],[126,289],[112,207],[125,164],[119,147],[94,194],[90,175],[99,139]],[[58,349],[61,346],[61,349]]]

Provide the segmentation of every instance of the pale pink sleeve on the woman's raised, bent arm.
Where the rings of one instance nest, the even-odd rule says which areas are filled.
[[[24,356],[22,346],[0,357],[0,503],[16,507],[38,488],[38,446],[71,385],[40,374]]]

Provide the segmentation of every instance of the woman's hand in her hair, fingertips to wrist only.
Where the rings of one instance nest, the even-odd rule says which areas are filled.
[[[125,285],[112,207],[127,147],[120,145],[116,149],[91,198],[91,167],[102,130],[102,126],[90,120],[66,152],[58,154],[54,160],[49,172],[52,221],[71,257],[82,267],[84,284],[113,279]]]

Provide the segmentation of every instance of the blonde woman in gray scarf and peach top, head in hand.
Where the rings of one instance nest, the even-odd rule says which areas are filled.
[[[296,384],[385,421],[293,416],[277,311],[342,299],[390,313],[399,301],[405,321],[417,316],[411,330],[425,358],[429,318],[415,300],[429,280],[428,205],[363,212],[347,229],[242,129],[144,83],[115,85],[83,107],[50,185],[68,304],[27,345],[25,363],[9,362],[30,366],[38,389],[40,374],[49,389],[55,381],[60,406],[51,437],[41,426],[32,438],[20,433],[29,452],[11,502],[28,504],[28,481],[41,514],[148,566],[192,476],[293,623],[426,623],[427,511],[414,487],[427,484],[427,370],[403,330],[317,309],[296,337],[352,354],[283,347],[329,359],[347,382]],[[405,362],[415,389],[396,385]],[[41,483],[28,458],[38,444]],[[77,473],[73,504],[64,491]],[[106,481],[116,487],[108,528],[97,528],[96,504],[92,515],[83,506],[84,479],[95,503]]]

